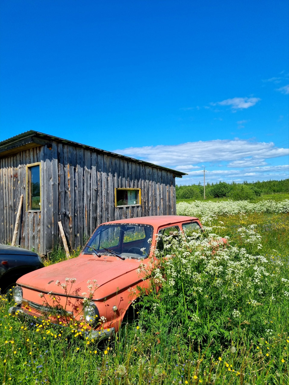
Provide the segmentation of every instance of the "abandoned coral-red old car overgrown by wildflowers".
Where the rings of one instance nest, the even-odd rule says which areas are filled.
[[[17,281],[10,313],[32,321],[48,318],[73,325],[82,336],[104,338],[119,330],[136,299],[148,288],[139,265],[150,263],[158,234],[202,228],[198,218],[149,216],[101,224],[77,258],[28,273]]]

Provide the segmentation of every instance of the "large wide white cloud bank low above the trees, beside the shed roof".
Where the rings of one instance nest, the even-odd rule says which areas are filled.
[[[204,166],[210,182],[289,177],[289,166],[272,166],[266,161],[289,155],[288,148],[278,148],[273,142],[218,139],[171,146],[129,147],[115,152],[187,172],[187,176],[177,181],[179,184],[198,183]]]

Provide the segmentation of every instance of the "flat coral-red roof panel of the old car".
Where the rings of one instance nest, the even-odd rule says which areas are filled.
[[[132,223],[132,224],[151,224],[153,226],[164,226],[166,224],[173,224],[178,222],[193,221],[198,218],[189,217],[185,215],[152,215],[139,218],[119,219],[118,221],[106,222],[108,223]],[[103,223],[102,223],[103,224]]]

